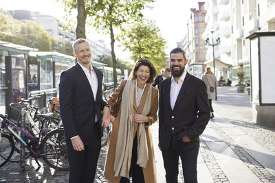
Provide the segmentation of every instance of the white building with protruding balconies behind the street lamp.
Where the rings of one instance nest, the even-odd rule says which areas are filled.
[[[206,30],[203,33],[203,39],[209,38],[210,44],[212,36],[214,43],[217,38],[220,38],[219,45],[214,47],[214,64],[213,64],[213,49],[211,46],[207,47],[206,62],[207,66],[215,65],[215,74],[224,79],[230,77],[229,66],[232,64],[231,59],[231,20],[230,20],[230,0],[208,0],[206,1]],[[213,34],[211,34],[213,32]]]

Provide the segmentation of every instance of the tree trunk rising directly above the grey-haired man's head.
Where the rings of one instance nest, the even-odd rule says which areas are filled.
[[[76,27],[76,39],[86,38],[85,24],[87,19],[87,13],[85,10],[85,0],[78,1],[78,15],[77,15],[77,27]]]

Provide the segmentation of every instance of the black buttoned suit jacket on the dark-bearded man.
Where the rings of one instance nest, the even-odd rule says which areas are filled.
[[[179,90],[174,110],[170,105],[171,77],[159,88],[159,145],[168,149],[170,141],[181,141],[188,136],[198,141],[210,119],[206,85],[199,78],[186,74]],[[172,138],[173,137],[173,138]]]

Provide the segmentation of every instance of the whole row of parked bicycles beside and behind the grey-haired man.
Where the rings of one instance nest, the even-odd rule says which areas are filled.
[[[25,158],[32,156],[39,165],[36,171],[41,167],[37,158],[43,158],[54,169],[67,171],[69,163],[58,98],[49,99],[43,109],[37,108],[34,101],[30,97],[10,103],[7,114],[0,114],[0,168],[9,161],[19,162],[23,145]],[[45,111],[48,113],[43,114]],[[104,129],[101,147],[107,145],[110,127]]]

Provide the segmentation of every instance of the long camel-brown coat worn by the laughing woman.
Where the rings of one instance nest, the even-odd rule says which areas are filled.
[[[146,88],[144,89],[144,93],[142,95],[142,98],[140,99],[140,105],[136,106],[136,99],[135,99],[135,93],[133,94],[133,101],[134,101],[134,113],[135,114],[141,114],[142,109],[144,107],[144,104],[146,102],[146,97],[149,92],[148,90],[149,85],[146,85]],[[116,99],[118,98],[118,95],[120,93],[120,86],[115,88],[113,93],[108,99],[108,103],[113,107]],[[157,121],[157,110],[158,110],[158,90],[154,87],[152,87],[152,99],[151,99],[151,112],[148,114],[148,123],[144,123],[145,132],[146,132],[146,139],[147,139],[147,145],[148,145],[148,162],[146,164],[145,168],[142,168],[143,174],[144,174],[144,181],[145,183],[154,183],[157,182],[157,173],[155,168],[155,155],[154,155],[154,149],[153,149],[153,139],[151,135],[151,130],[148,128],[150,125],[155,123]],[[123,98],[122,98],[123,100]],[[120,108],[121,109],[121,108]],[[121,177],[114,177],[115,171],[113,170],[113,164],[115,160],[115,147],[117,143],[118,138],[118,128],[120,125],[120,114],[121,111],[118,112],[118,117],[115,118],[115,121],[113,121],[112,129],[109,132],[109,147],[108,147],[108,153],[106,157],[105,167],[104,167],[104,176],[109,181],[115,183],[120,182]],[[134,122],[134,135],[137,133],[137,122]]]

